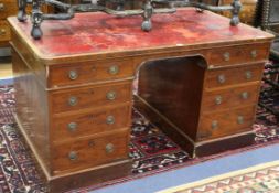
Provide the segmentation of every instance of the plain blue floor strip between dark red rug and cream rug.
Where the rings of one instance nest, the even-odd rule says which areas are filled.
[[[168,187],[279,160],[279,153],[275,152],[279,152],[279,144],[271,144],[265,148],[159,173],[157,175],[110,185],[89,193],[155,193]]]

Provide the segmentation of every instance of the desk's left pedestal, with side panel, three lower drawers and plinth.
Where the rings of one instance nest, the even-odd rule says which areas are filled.
[[[47,191],[61,193],[128,175],[131,81],[47,87],[46,76],[52,75],[44,64],[15,44],[12,43],[14,117]],[[60,76],[69,82],[83,72],[62,69],[64,74]],[[104,78],[114,75],[106,72]]]

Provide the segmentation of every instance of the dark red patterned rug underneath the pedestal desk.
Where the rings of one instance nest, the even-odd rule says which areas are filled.
[[[265,103],[279,107],[279,97],[268,99]],[[31,158],[31,152],[18,132],[18,126],[14,124],[12,117],[13,111],[13,87],[0,87],[0,193],[45,192]],[[174,170],[279,142],[278,120],[268,111],[258,108],[257,120],[253,128],[257,133],[253,146],[211,157],[190,159],[185,151],[181,150],[159,128],[135,109],[130,142],[130,157],[133,159],[131,174],[124,179],[117,179],[73,192],[84,193],[105,185],[143,178],[158,172]]]

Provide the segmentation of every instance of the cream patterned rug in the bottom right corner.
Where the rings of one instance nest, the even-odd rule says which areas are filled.
[[[279,193],[279,161],[171,187],[158,193]]]

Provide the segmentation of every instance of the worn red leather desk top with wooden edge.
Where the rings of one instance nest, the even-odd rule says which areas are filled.
[[[173,14],[155,14],[151,32],[141,31],[141,17],[117,18],[106,13],[78,13],[72,20],[43,21],[43,37],[30,36],[31,21],[11,25],[28,42],[39,57],[54,58],[101,53],[137,52],[173,46],[206,46],[224,42],[265,41],[272,35],[245,24],[229,25],[229,19],[210,11],[198,13],[193,8],[179,9]]]

